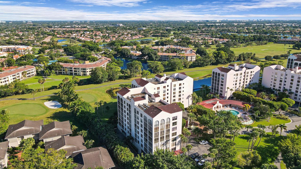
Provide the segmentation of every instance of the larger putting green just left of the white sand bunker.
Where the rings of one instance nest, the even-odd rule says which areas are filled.
[[[42,115],[47,112],[47,108],[41,106],[40,104],[15,104],[12,106],[4,107],[7,109],[11,115],[27,115],[27,116],[36,116]]]

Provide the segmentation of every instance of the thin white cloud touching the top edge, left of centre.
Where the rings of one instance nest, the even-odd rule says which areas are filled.
[[[76,2],[82,4],[91,4],[98,6],[122,6],[122,7],[135,7],[141,2],[147,0],[67,0],[69,2]]]

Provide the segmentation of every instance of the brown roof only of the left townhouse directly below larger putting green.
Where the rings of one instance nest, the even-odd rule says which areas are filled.
[[[5,139],[37,134],[41,131],[41,126],[43,123],[44,120],[23,120],[17,124],[11,124],[8,126]]]

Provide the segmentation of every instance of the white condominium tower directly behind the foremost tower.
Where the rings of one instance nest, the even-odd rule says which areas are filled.
[[[155,78],[133,80],[132,88],[138,87],[146,87],[149,94],[156,94],[166,103],[181,102],[188,107],[192,100],[193,78],[184,72],[170,76],[157,74]]]

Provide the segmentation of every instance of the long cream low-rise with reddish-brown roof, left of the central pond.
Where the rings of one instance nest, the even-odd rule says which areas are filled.
[[[102,57],[100,60],[93,63],[89,63],[89,61],[85,61],[85,63],[60,63],[63,67],[58,71],[58,74],[88,76],[96,67],[103,67],[106,69],[107,63],[110,61],[110,58]]]

